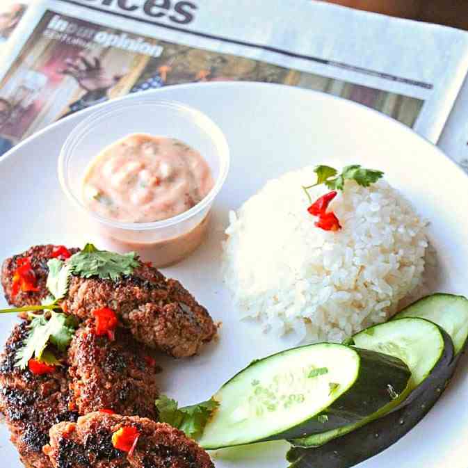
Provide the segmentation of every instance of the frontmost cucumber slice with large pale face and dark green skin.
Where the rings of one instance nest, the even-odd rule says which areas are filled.
[[[213,396],[204,449],[288,439],[355,423],[407,387],[396,357],[341,344],[300,346],[252,362]],[[389,389],[391,389],[389,391]]]

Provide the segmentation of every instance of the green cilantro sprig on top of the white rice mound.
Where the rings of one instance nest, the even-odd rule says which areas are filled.
[[[330,166],[316,166],[314,172],[317,175],[316,183],[302,186],[311,203],[312,198],[308,192],[309,188],[325,184],[330,190],[343,190],[346,180],[354,180],[360,186],[369,187],[384,175],[381,170],[362,168],[360,164],[345,166],[340,174],[335,168],[331,168]]]

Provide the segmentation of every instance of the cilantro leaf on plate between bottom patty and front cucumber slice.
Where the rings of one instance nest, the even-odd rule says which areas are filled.
[[[156,400],[156,408],[159,411],[159,421],[168,423],[172,427],[182,430],[187,437],[197,439],[203,433],[211,414],[218,408],[219,403],[213,398],[197,405],[179,408],[177,401],[161,395]]]

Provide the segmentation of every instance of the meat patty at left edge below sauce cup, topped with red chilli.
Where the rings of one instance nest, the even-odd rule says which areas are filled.
[[[65,259],[78,251],[79,249],[67,249],[63,245],[34,245],[26,252],[3,261],[1,284],[8,304],[15,307],[40,304],[49,294],[45,285],[49,274],[47,261],[53,257]],[[23,284],[15,280],[18,268],[26,270],[26,281]]]

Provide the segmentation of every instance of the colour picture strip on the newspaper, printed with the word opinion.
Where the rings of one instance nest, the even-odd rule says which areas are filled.
[[[0,83],[0,147],[94,104],[202,81],[284,83],[346,97],[412,126],[423,102],[260,60],[172,44],[47,11]]]

